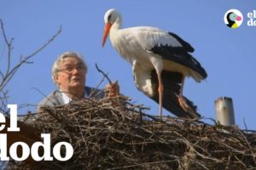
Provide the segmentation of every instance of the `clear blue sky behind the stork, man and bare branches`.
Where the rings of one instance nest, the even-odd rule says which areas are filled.
[[[61,35],[31,59],[32,65],[23,65],[9,82],[9,104],[37,105],[44,96],[32,88],[44,94],[53,91],[51,66],[58,54],[72,50],[83,54],[89,65],[86,85],[94,87],[102,80],[95,68],[97,63],[113,81],[119,80],[123,94],[150,107],[148,113],[156,115],[158,105],[137,91],[131,65],[119,57],[109,40],[104,48],[101,46],[103,16],[108,8],[119,10],[123,27],[155,26],[183,37],[195,48],[193,55],[208,73],[205,82],[187,79],[183,94],[195,102],[202,116],[211,118],[215,117],[214,100],[230,97],[237,125],[245,128],[244,119],[249,129],[256,129],[256,26],[247,26],[247,13],[256,10],[255,1],[1,0],[0,18],[7,36],[15,38],[14,63],[20,55],[39,48],[62,26]],[[244,17],[243,24],[233,30],[224,25],[224,14],[230,8],[239,9]],[[1,68],[6,65],[6,52],[0,35]],[[34,108],[23,107],[19,113],[29,110]]]

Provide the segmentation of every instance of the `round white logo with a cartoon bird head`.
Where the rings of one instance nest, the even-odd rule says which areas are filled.
[[[238,28],[241,26],[242,20],[242,14],[237,9],[230,9],[224,14],[224,23],[230,28]]]

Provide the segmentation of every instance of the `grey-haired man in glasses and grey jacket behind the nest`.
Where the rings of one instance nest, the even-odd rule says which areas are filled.
[[[52,67],[52,79],[58,89],[43,99],[38,108],[42,105],[68,104],[72,100],[81,98],[102,99],[119,94],[118,84],[108,84],[105,93],[100,93],[99,89],[84,86],[87,71],[87,66],[79,54],[74,52],[61,54]]]

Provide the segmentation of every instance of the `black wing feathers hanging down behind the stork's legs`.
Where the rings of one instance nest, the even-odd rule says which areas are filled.
[[[174,115],[184,118],[198,118],[201,117],[199,113],[196,112],[196,106],[193,103],[187,100],[187,104],[195,111],[195,114],[190,114],[189,112],[183,111],[183,108],[179,105],[177,94],[180,92],[180,83],[182,80],[182,75],[177,72],[171,71],[162,71],[162,80],[164,85],[163,92],[163,107],[172,112]],[[151,82],[152,88],[155,88],[154,91],[157,91],[158,88],[158,79],[155,71],[151,71]],[[155,102],[159,103],[159,94],[155,93],[151,99],[154,99]]]

